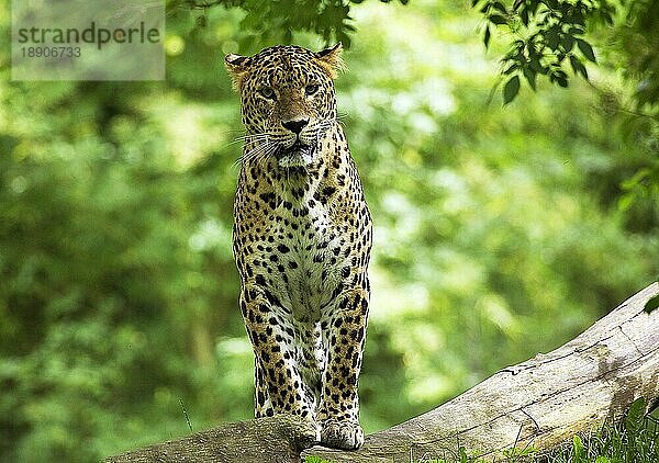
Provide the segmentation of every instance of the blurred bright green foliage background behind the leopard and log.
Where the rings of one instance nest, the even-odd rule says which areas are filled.
[[[502,108],[498,45],[468,2],[350,15],[336,86],[376,225],[371,432],[657,279],[659,197],[630,179],[657,161],[659,129],[624,110],[615,54],[589,68],[594,87],[540,82]],[[0,460],[94,461],[188,434],[183,409],[194,431],[252,417],[231,253],[242,127],[222,58],[277,37],[244,18],[171,10],[163,82],[12,82],[0,35]]]

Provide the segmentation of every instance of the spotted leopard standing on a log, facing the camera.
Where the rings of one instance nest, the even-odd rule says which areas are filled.
[[[313,442],[353,450],[365,440],[372,222],[337,115],[342,50],[278,45],[224,63],[245,128],[233,253],[255,416],[292,415],[313,425]]]

